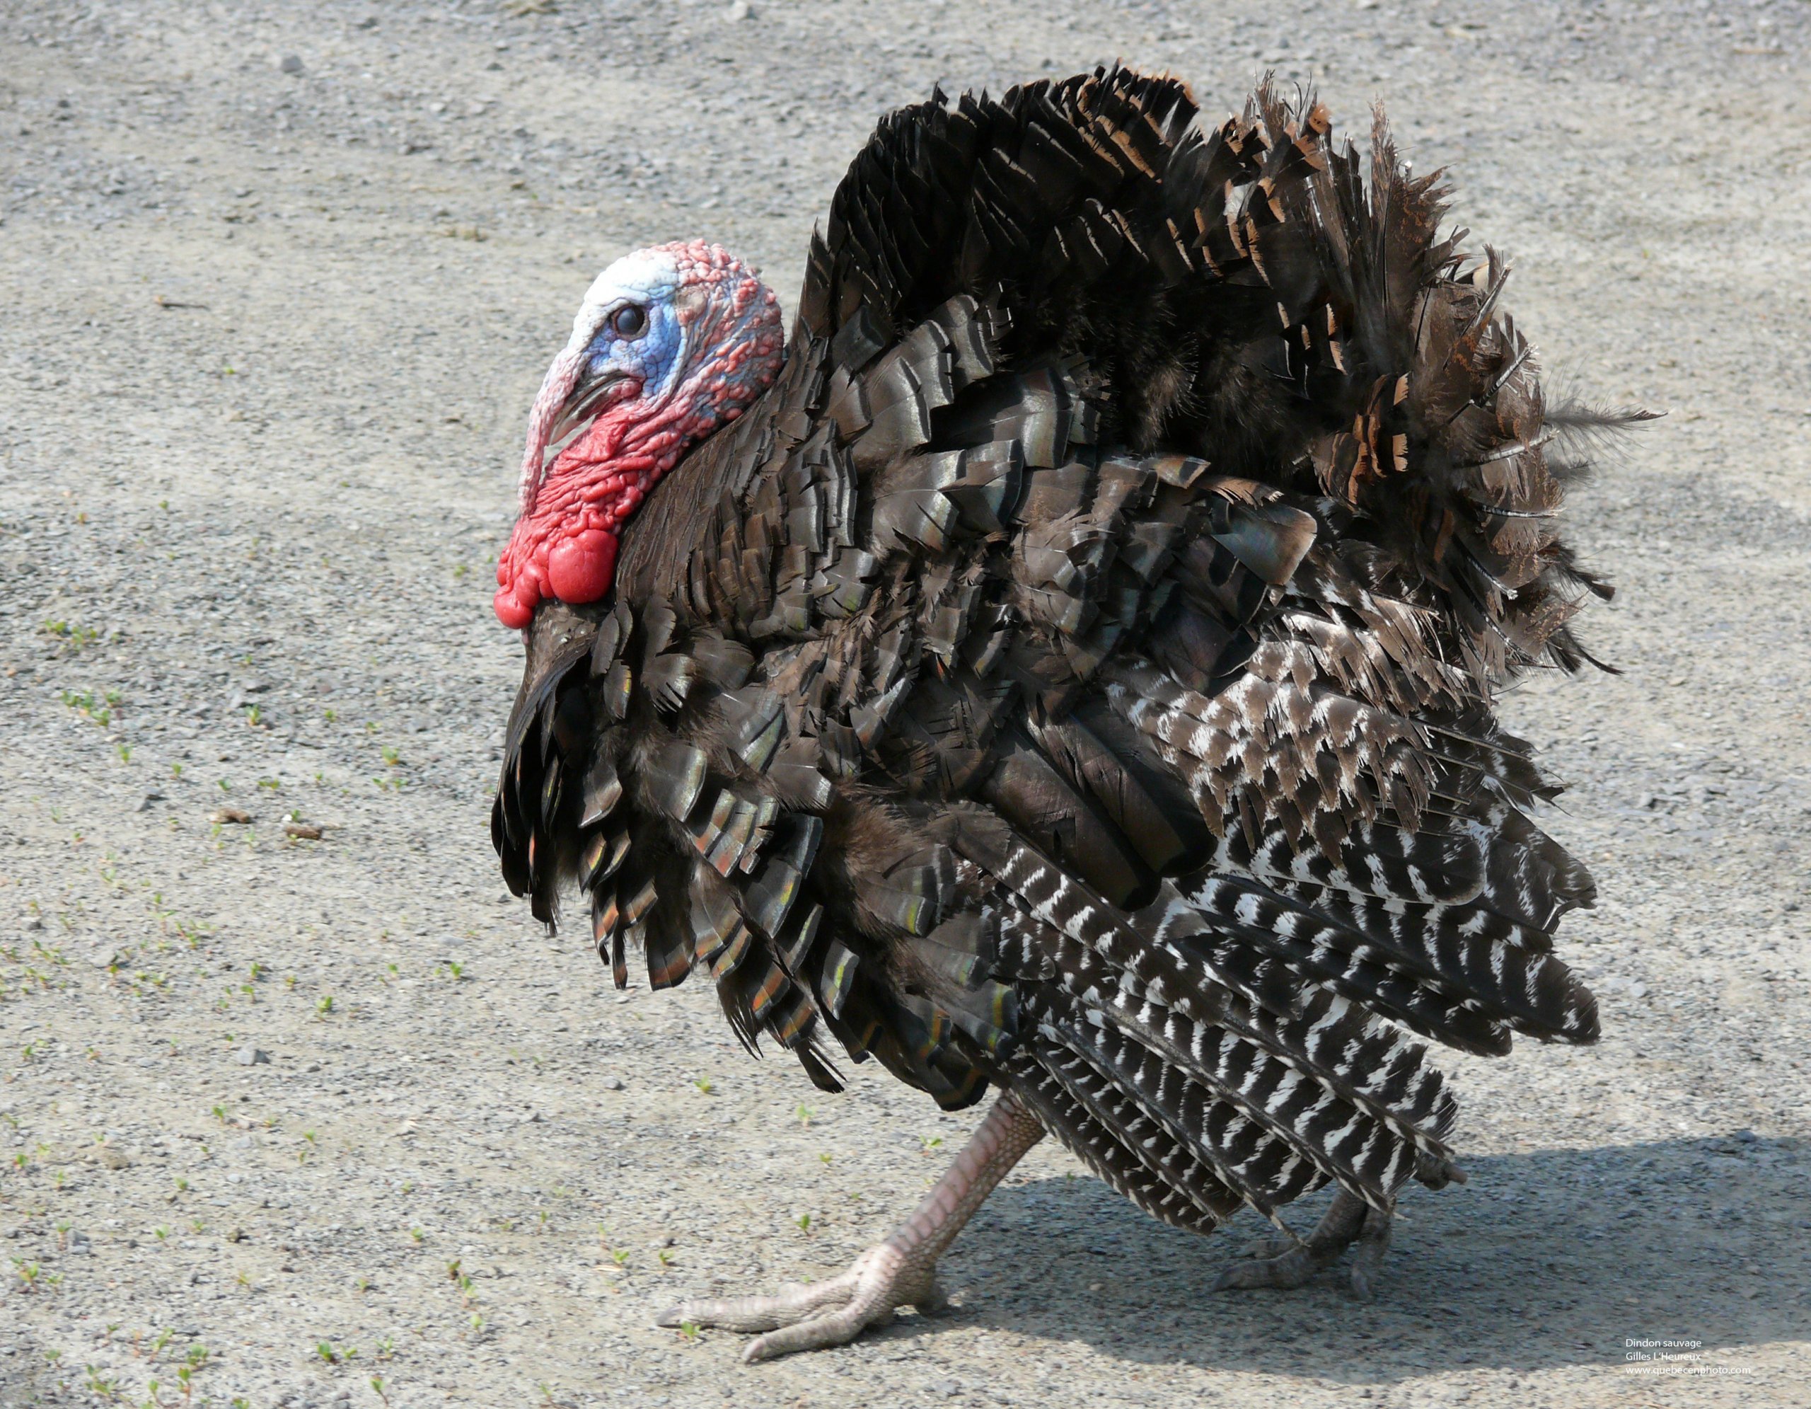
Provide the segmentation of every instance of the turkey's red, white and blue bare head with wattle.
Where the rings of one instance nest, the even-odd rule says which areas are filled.
[[[735,255],[657,244],[598,275],[547,369],[522,456],[522,513],[496,618],[608,594],[623,525],[654,484],[773,382],[779,302]]]

